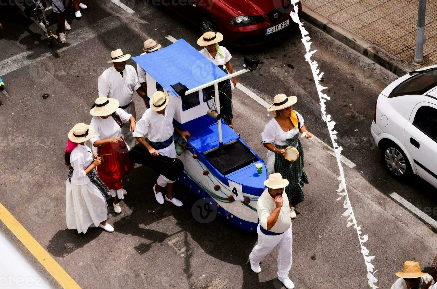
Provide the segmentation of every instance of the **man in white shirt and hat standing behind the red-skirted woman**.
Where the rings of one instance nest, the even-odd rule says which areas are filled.
[[[130,54],[123,54],[121,49],[111,52],[111,61],[114,66],[103,71],[99,76],[98,88],[99,97],[117,99],[120,102],[120,108],[136,118],[135,103],[132,100],[134,91],[144,100],[147,105],[147,93],[141,87],[135,68],[132,65],[126,65],[126,60],[131,57]],[[129,147],[135,146],[135,138],[132,137],[129,123],[123,124],[123,139]]]

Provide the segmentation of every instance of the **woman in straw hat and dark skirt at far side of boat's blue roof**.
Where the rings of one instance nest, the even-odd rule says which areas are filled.
[[[201,54],[229,75],[234,73],[230,62],[232,56],[225,47],[218,45],[218,42],[222,40],[223,35],[220,32],[208,31],[198,39],[197,44],[205,47],[199,51]],[[218,83],[218,90],[225,93],[225,95],[220,95],[220,113],[222,119],[231,126],[233,126],[232,89],[235,88],[236,84],[237,80],[235,77],[232,80]]]

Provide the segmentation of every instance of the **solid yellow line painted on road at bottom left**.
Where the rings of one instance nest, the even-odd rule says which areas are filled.
[[[29,234],[29,232],[17,221],[16,218],[0,203],[0,221],[2,221],[9,230],[14,233],[18,240],[23,243],[29,252],[44,266],[50,275],[63,288],[80,288],[79,285],[65,272],[64,269],[42,248],[41,245]]]

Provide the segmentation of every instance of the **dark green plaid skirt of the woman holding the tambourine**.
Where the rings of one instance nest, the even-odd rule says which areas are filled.
[[[288,186],[285,187],[288,201],[291,201],[292,197],[300,197],[303,200],[304,196],[302,187],[304,184],[308,184],[308,177],[303,169],[303,148],[298,133],[292,139],[287,139],[287,145],[276,147],[279,150],[283,150],[287,146],[294,146],[298,150],[298,159],[294,162],[290,162],[286,160],[284,156],[277,153],[275,154],[274,171],[275,173],[281,173],[282,177],[289,181]]]

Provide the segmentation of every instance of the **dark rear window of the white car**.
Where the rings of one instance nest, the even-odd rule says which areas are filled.
[[[435,86],[437,86],[437,71],[417,74],[398,85],[395,89],[393,89],[392,93],[390,93],[388,97],[391,98],[412,94],[423,95],[425,92]]]

